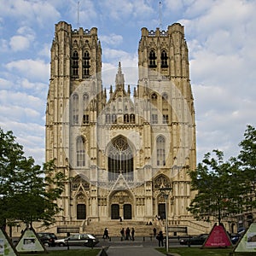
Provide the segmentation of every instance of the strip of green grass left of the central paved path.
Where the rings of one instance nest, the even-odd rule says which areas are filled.
[[[21,254],[23,256],[96,256],[101,249],[48,251],[49,253]]]

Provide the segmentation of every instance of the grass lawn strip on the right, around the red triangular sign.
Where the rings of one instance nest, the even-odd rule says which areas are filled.
[[[156,248],[161,253],[166,253],[166,248]],[[169,253],[178,253],[181,256],[230,256],[232,253],[232,248],[214,248],[214,249],[201,249],[200,247],[177,247],[170,248]],[[231,254],[232,255],[232,254]],[[255,256],[255,253],[236,253],[236,256]]]

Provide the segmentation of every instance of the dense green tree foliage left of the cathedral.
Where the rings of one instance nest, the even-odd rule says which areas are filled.
[[[56,200],[63,191],[65,177],[55,172],[54,160],[43,168],[26,158],[12,131],[0,128],[0,221],[2,227],[20,220],[26,224],[55,221],[61,211]]]

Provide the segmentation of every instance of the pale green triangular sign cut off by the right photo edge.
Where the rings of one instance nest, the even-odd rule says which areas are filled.
[[[256,223],[250,224],[246,232],[241,236],[233,252],[256,253]]]

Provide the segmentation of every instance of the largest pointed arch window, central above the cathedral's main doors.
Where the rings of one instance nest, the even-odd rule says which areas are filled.
[[[108,148],[108,180],[116,180],[122,173],[133,180],[133,154],[125,137],[117,137]]]

